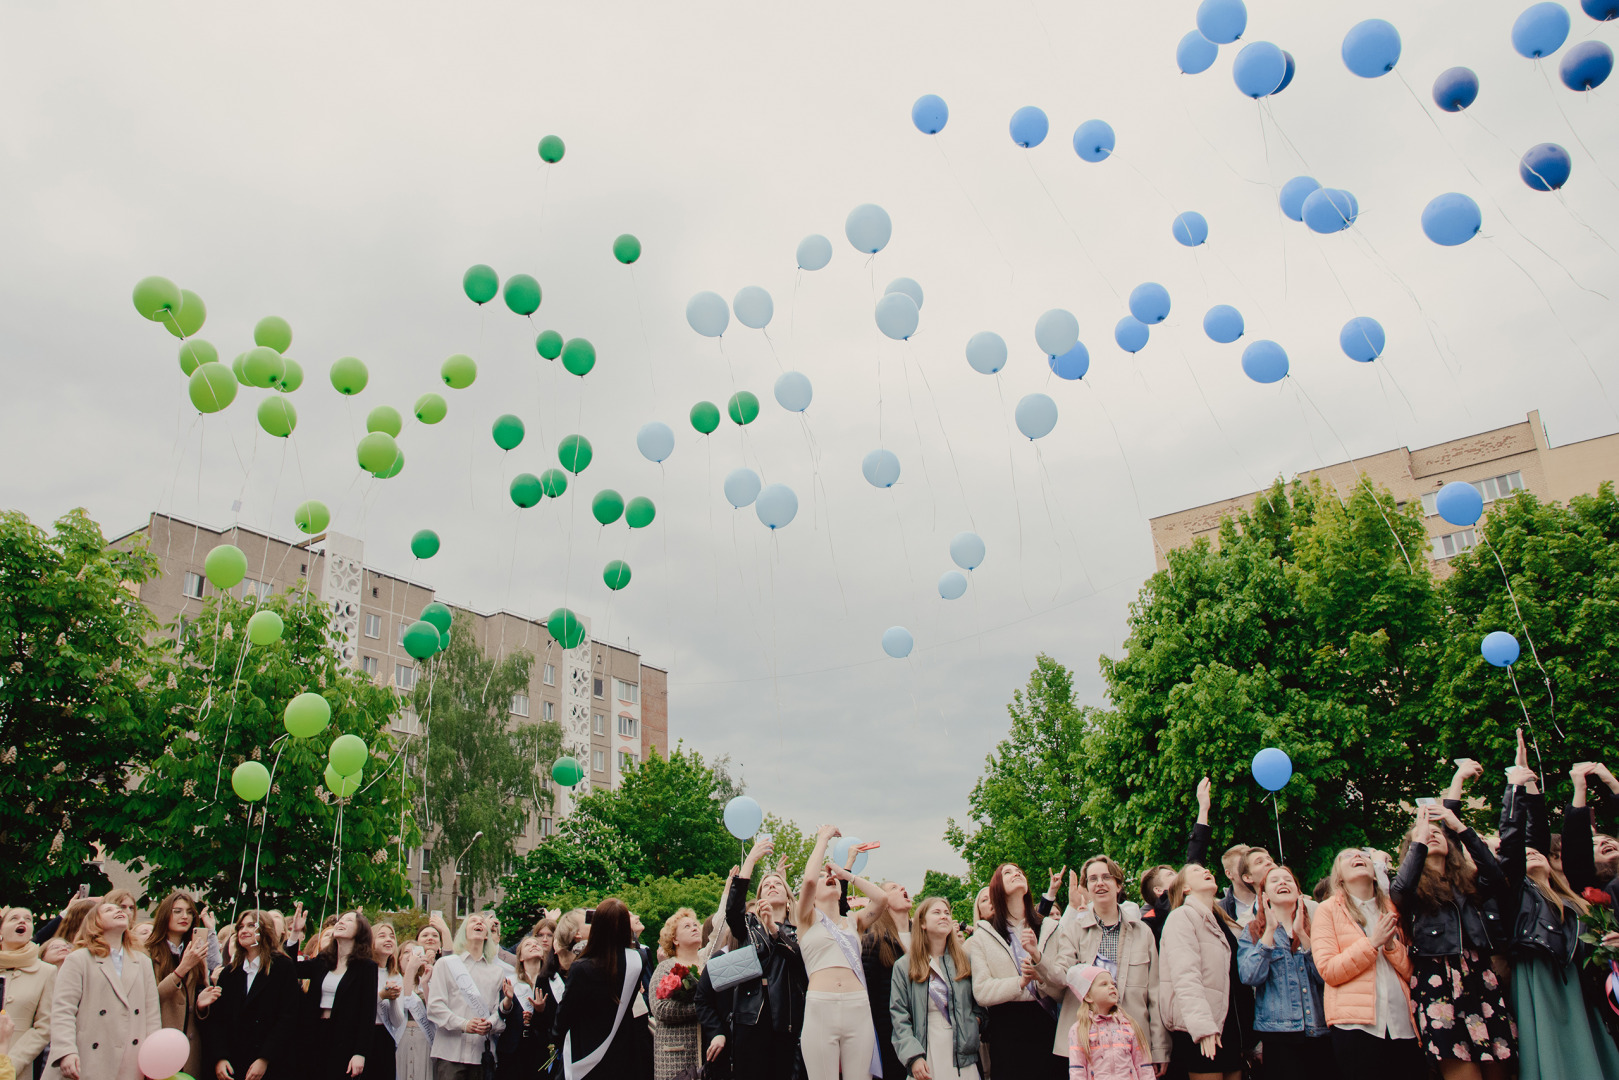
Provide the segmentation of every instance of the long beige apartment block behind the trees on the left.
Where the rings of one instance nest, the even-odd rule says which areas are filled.
[[[338,533],[290,541],[241,526],[214,529],[160,513],[113,544],[128,542],[134,536],[146,538],[160,567],[159,576],[141,586],[141,601],[170,631],[178,631],[185,620],[196,617],[214,593],[202,573],[207,552],[217,544],[235,544],[248,557],[248,576],[232,589],[236,596],[249,599],[287,589],[312,589],[332,612],[338,649],[346,664],[398,693],[414,688],[418,662],[405,651],[402,640],[405,628],[419,619],[421,609],[436,599],[434,589],[368,567],[361,541]],[[552,640],[544,622],[507,610],[450,607],[471,614],[486,654],[525,651],[534,657],[528,693],[513,695],[508,712],[513,724],[562,725],[565,750],[584,766],[584,782],[575,789],[576,793],[597,785],[617,787],[625,771],[643,761],[652,748],[669,753],[665,670],[649,667],[638,653],[597,641],[589,633],[576,649],[563,649]],[[410,708],[395,717],[393,733],[402,738],[421,735],[421,722]],[[516,845],[518,855],[549,836],[572,806],[573,795],[552,784],[549,763],[539,782],[552,790],[555,805],[529,816],[528,829]],[[432,837],[424,848],[410,853],[413,900],[429,910],[465,908],[466,897],[455,904],[447,887],[432,891],[424,870],[431,848]],[[457,852],[440,855],[444,860],[455,860]]]

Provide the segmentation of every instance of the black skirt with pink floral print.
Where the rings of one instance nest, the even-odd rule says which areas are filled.
[[[1511,1061],[1517,1057],[1517,1022],[1501,980],[1473,949],[1459,957],[1412,960],[1417,1038],[1434,1061]]]

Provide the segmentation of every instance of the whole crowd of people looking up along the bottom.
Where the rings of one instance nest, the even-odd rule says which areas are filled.
[[[615,899],[550,912],[513,950],[499,918],[413,941],[346,910],[306,934],[186,892],[0,913],[0,1080],[138,1080],[183,1033],[196,1080],[1619,1080],[1619,840],[1593,834],[1601,764],[1551,834],[1522,748],[1499,826],[1462,818],[1459,761],[1394,858],[1337,852],[1313,887],[1264,847],[1209,870],[1209,782],[1183,865],[1135,879],[1106,853],[1035,882],[996,870],[958,923],[827,858],[793,881],[759,837],[709,918],[640,942]],[[1041,891],[1038,886],[1044,886]],[[1059,910],[1059,894],[1065,904]],[[1619,967],[1611,968],[1619,983]],[[178,1038],[178,1036],[175,1036]],[[164,1080],[164,1078],[157,1078]]]

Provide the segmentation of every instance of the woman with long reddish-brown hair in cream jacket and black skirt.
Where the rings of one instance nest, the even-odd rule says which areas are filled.
[[[1056,1002],[1043,993],[1062,980],[1054,970],[1056,949],[1046,949],[1057,923],[1041,923],[1022,870],[1010,863],[996,868],[989,918],[978,921],[967,942],[973,997],[988,1010],[996,1075],[1041,1080],[1067,1072],[1064,1059],[1051,1052],[1057,1043]],[[1052,970],[1043,973],[1046,952]]]

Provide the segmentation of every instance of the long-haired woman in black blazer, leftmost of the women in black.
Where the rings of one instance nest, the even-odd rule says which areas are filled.
[[[298,976],[272,928],[262,912],[243,912],[219,984],[198,994],[202,1062],[217,1080],[280,1080],[298,1072]]]

